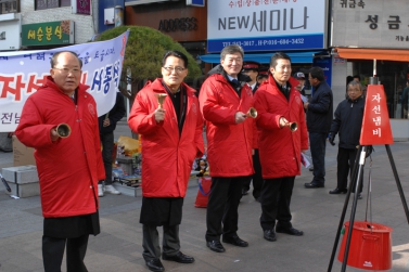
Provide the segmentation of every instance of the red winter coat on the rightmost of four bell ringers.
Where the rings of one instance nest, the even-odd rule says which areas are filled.
[[[301,174],[301,152],[308,150],[304,105],[299,92],[294,88],[298,81],[290,78],[289,82],[292,87],[289,101],[271,75],[268,83],[261,85],[254,98],[258,112],[258,151],[264,179]],[[291,132],[286,127],[280,128],[281,117],[297,122],[298,129]]]

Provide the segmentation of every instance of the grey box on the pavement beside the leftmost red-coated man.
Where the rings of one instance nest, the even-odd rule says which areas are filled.
[[[11,192],[7,192],[9,195],[23,198],[40,194],[37,167],[34,165],[5,167],[2,176],[11,187]]]

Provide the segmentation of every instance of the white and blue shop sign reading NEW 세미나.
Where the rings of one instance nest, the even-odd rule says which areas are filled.
[[[328,0],[208,1],[207,51],[325,49],[327,7]]]

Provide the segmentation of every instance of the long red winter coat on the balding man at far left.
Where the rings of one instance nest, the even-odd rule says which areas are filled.
[[[89,87],[79,85],[77,105],[51,77],[23,107],[15,131],[34,147],[44,218],[89,215],[99,208],[98,181],[105,179],[97,105]],[[68,138],[51,141],[50,131],[65,122]]]

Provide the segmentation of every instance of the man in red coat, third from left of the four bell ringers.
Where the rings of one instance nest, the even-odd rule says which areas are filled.
[[[199,95],[206,120],[207,160],[212,187],[206,215],[206,244],[210,250],[223,252],[222,242],[246,247],[238,236],[238,207],[243,182],[253,170],[253,125],[246,116],[253,107],[250,77],[241,74],[244,51],[239,46],[221,50],[220,64],[209,72]],[[222,226],[221,226],[222,223]]]

